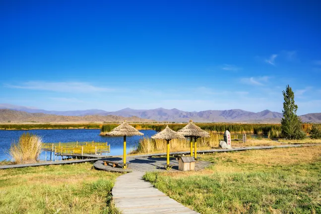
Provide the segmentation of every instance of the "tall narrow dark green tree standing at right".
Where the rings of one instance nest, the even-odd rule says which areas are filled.
[[[302,121],[298,117],[298,106],[294,102],[294,93],[288,85],[286,90],[282,92],[284,97],[283,118],[281,119],[282,136],[286,139],[303,139],[306,134],[302,131]]]

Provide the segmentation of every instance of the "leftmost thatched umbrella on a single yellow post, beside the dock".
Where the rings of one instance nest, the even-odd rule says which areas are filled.
[[[106,134],[107,136],[124,136],[124,163],[123,168],[127,168],[128,163],[126,162],[126,136],[134,136],[134,135],[144,135],[139,132],[137,129],[129,125],[126,120],[112,131]]]

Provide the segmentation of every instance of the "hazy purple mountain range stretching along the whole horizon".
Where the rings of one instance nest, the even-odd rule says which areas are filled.
[[[43,114],[61,115],[61,116],[78,116],[83,118],[85,118],[86,116],[88,117],[90,115],[91,116],[95,115],[96,117],[113,115],[113,116],[120,116],[120,117],[137,117],[142,119],[148,119],[149,121],[156,120],[156,121],[175,121],[175,122],[188,122],[189,119],[193,119],[195,122],[279,123],[282,118],[282,113],[275,112],[275,111],[263,110],[260,112],[251,112],[251,111],[245,111],[242,109],[204,110],[204,111],[198,111],[198,112],[183,111],[177,108],[173,108],[173,109],[155,108],[155,109],[145,109],[145,110],[124,108],[118,111],[105,111],[101,109],[51,111],[51,110],[37,109],[34,107],[15,106],[10,104],[0,104],[0,109],[11,109],[11,110],[25,111],[28,113],[43,113]],[[321,113],[309,113],[309,114],[301,115],[300,117],[304,122],[321,122]],[[91,120],[91,121],[94,121],[94,120]],[[109,121],[109,120],[105,120],[105,121]]]

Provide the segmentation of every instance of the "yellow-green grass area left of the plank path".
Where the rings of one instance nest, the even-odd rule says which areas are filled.
[[[109,214],[110,191],[120,175],[92,163],[0,170],[1,214]]]

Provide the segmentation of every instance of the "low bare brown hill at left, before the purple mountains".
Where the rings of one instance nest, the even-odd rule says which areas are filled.
[[[115,115],[86,115],[86,116],[63,116],[45,113],[29,113],[10,109],[0,109],[0,122],[51,122],[51,123],[84,123],[84,122],[152,122],[153,120],[141,119],[136,116],[123,117]]]

